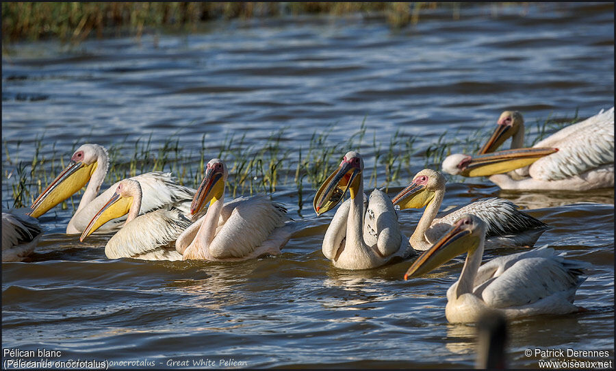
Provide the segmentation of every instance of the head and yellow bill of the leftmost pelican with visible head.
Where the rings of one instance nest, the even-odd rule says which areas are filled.
[[[30,216],[38,218],[49,209],[68,199],[90,181],[94,170],[99,165],[98,159],[101,152],[106,155],[107,151],[98,144],[83,144],[73,157],[70,157],[68,166],[60,172],[47,188],[34,200],[30,206]]]

